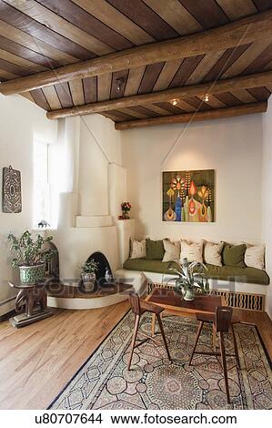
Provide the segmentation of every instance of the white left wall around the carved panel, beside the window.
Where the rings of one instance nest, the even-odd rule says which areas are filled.
[[[0,302],[15,294],[7,284],[13,274],[6,237],[9,231],[19,234],[33,226],[34,138],[52,141],[56,138],[56,123],[47,120],[45,111],[24,97],[0,95],[0,189],[2,169],[12,165],[21,171],[23,199],[21,213],[6,214],[0,209]]]

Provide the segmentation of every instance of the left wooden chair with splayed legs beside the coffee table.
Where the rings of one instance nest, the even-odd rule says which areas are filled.
[[[133,313],[135,314],[135,325],[134,325],[134,331],[133,331],[133,336],[132,336],[132,341],[131,341],[131,351],[130,351],[130,356],[129,356],[129,361],[128,361],[128,370],[130,370],[132,356],[133,356],[133,352],[134,352],[135,348],[137,348],[138,346],[140,346],[141,344],[143,344],[144,342],[146,342],[148,340],[155,341],[155,343],[160,346],[159,341],[156,341],[152,336],[148,336],[143,331],[138,331],[140,318],[143,315],[143,313],[145,313],[145,312],[151,312],[151,313],[156,315],[156,319],[158,321],[158,325],[159,325],[159,328],[160,328],[160,331],[161,331],[161,334],[163,337],[163,341],[164,341],[164,344],[166,347],[167,356],[168,356],[168,359],[171,361],[170,353],[169,353],[167,342],[166,342],[166,335],[165,335],[163,323],[162,323],[161,317],[160,317],[160,314],[162,311],[164,311],[164,308],[161,308],[160,306],[149,303],[148,301],[140,300],[139,296],[135,292],[129,293],[129,301],[130,301],[130,305],[131,305],[131,311],[133,311]],[[139,332],[139,334],[141,334],[142,336],[146,337],[145,340],[140,341],[138,344],[136,344],[137,332]]]

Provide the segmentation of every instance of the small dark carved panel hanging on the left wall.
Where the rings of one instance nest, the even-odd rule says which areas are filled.
[[[21,194],[21,172],[11,167],[3,168],[3,212],[21,212],[22,194]]]

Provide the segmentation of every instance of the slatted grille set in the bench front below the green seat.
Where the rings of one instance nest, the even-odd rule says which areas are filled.
[[[154,287],[173,289],[173,286],[161,282],[147,282],[147,287],[148,293],[150,293]],[[210,290],[209,294],[224,296],[227,306],[231,306],[232,308],[247,309],[249,311],[265,311],[266,296],[263,294],[222,290]]]

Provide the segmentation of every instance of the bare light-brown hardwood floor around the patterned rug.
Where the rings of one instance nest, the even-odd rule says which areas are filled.
[[[128,310],[122,302],[88,311],[57,310],[21,330],[0,322],[0,408],[45,409]],[[272,321],[235,310],[255,323],[272,358]]]

